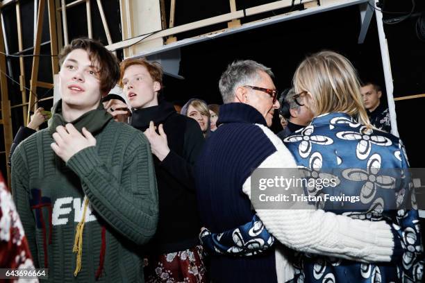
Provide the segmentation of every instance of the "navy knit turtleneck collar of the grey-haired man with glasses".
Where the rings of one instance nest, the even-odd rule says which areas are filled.
[[[267,127],[263,115],[245,103],[227,103],[220,106],[220,115],[217,126],[222,123],[259,123]]]

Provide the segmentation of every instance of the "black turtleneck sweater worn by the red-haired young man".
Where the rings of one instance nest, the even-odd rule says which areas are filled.
[[[193,166],[203,146],[203,135],[194,119],[178,114],[166,101],[133,111],[131,126],[139,130],[163,124],[169,154],[160,162],[153,155],[158,184],[160,216],[151,252],[163,254],[192,248],[201,228],[194,188]]]

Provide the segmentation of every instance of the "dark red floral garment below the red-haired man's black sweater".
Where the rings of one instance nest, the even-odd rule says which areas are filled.
[[[147,283],[207,282],[201,245],[180,252],[150,256],[145,263],[144,280]]]

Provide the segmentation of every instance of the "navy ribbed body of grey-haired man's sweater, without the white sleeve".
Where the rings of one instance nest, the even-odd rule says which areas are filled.
[[[201,220],[212,232],[251,221],[253,211],[242,185],[276,148],[253,123],[265,125],[255,108],[229,103],[220,108],[221,126],[211,135],[197,163],[197,197]],[[274,249],[253,257],[211,257],[213,282],[276,282]]]

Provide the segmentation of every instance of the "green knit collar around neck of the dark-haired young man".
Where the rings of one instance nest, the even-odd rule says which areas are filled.
[[[92,135],[97,135],[103,127],[113,119],[113,117],[106,112],[103,108],[103,104],[99,103],[97,109],[85,112],[83,115],[75,119],[74,121],[65,121],[62,113],[62,99],[60,99],[52,108],[52,117],[48,121],[49,132],[53,135],[56,132],[56,127],[65,126],[67,123],[72,123],[74,127],[81,132],[85,127]]]

